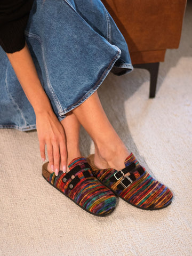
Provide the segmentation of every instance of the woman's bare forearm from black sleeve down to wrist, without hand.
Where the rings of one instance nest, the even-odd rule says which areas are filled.
[[[35,114],[52,111],[49,98],[39,81],[27,44],[19,52],[7,53],[7,57],[11,62],[23,91],[34,108]]]

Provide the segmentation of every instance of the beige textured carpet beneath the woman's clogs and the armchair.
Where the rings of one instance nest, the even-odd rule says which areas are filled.
[[[143,211],[122,199],[109,217],[83,211],[41,175],[36,131],[0,130],[0,255],[192,255],[192,3],[178,50],[161,63],[155,99],[149,74],[110,74],[99,89],[106,113],[127,147],[169,186],[173,203]],[[81,132],[84,155],[93,144]]]

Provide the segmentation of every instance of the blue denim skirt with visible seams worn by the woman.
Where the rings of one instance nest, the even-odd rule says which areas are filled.
[[[113,66],[133,69],[125,39],[100,0],[36,0],[25,36],[59,121],[98,89]],[[33,107],[1,47],[0,70],[0,128],[36,129]]]

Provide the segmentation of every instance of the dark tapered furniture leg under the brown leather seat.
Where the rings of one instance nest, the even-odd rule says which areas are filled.
[[[143,69],[147,69],[149,71],[149,73],[150,73],[149,98],[155,98],[159,62],[145,63],[145,64],[135,64],[135,65],[133,65],[133,67],[134,68],[143,68]]]

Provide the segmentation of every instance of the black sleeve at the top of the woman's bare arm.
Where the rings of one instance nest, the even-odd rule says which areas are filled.
[[[34,0],[0,0],[0,45],[7,53],[25,46],[24,31]]]

